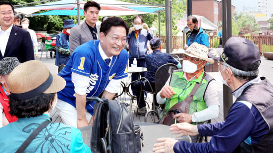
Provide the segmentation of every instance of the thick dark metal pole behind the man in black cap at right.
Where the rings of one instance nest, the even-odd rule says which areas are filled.
[[[232,35],[231,29],[231,0],[222,0],[222,39],[223,46]],[[228,110],[233,103],[233,97],[230,94],[232,90],[223,84],[223,103],[224,103],[224,120]]]

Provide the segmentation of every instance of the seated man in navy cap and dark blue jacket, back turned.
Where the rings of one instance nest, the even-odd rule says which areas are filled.
[[[148,71],[146,78],[151,83],[153,90],[155,90],[155,74],[156,74],[157,69],[166,63],[173,63],[180,69],[181,64],[180,64],[180,62],[175,60],[170,54],[161,52],[161,49],[162,49],[161,48],[161,40],[159,38],[151,39],[150,45],[153,50],[153,53],[145,56],[145,61],[146,61],[147,71]],[[142,81],[141,83],[142,83],[143,90],[151,91],[149,84],[146,83],[145,80]],[[137,103],[139,104],[139,109],[138,109],[137,114],[145,115],[147,112],[147,109],[146,109],[146,103],[144,101],[143,93],[141,93],[140,101],[138,102],[139,95],[140,95],[140,87],[141,87],[140,81],[137,81],[132,86],[132,88],[134,88],[136,90],[136,100],[137,100]],[[157,109],[159,104],[156,102],[156,95],[155,95],[154,99],[155,99],[155,105],[156,105],[156,109]],[[136,110],[134,112],[136,114]]]

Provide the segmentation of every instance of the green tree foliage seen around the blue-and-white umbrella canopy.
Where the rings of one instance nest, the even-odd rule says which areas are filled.
[[[17,4],[25,4],[29,2],[35,2],[40,0],[7,0],[10,1],[13,5]],[[53,2],[56,0],[51,0],[47,2],[42,3],[48,3]],[[85,0],[86,1],[86,0]],[[150,3],[143,3],[143,2],[137,2],[133,0],[120,0],[120,1],[126,1],[131,3],[137,3],[137,4],[144,4],[144,5],[153,5]],[[146,2],[154,2],[158,4],[165,4],[165,0],[141,0]],[[179,20],[183,17],[182,13],[186,13],[186,1],[187,0],[173,0],[172,1],[172,32],[173,34],[176,34],[178,32],[177,30],[177,22],[176,20]],[[29,4],[30,5],[38,5],[42,3],[34,3]],[[39,11],[36,13],[42,13],[46,10]],[[131,27],[133,25],[133,18],[136,15],[128,15],[128,16],[120,16],[125,22],[127,22],[128,26]],[[144,22],[149,26],[155,26],[158,29],[158,13],[155,14],[141,14],[141,17],[143,18]],[[27,17],[30,21],[29,28],[35,30],[35,31],[47,31],[49,33],[52,33],[54,31],[61,31],[63,26],[63,21],[65,19],[73,19],[74,23],[77,24],[77,16],[32,16]],[[100,17],[101,19],[102,17]],[[81,16],[81,20],[84,19],[84,16]],[[158,31],[156,31],[158,33]],[[165,10],[161,11],[161,35],[165,35]]]

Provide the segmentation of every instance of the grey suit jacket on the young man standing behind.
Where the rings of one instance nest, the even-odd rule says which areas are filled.
[[[98,31],[98,39],[100,39],[100,28],[96,26]],[[69,50],[70,54],[80,45],[88,42],[89,40],[93,40],[93,36],[91,31],[89,30],[86,22],[84,21],[81,25],[74,26],[70,31],[69,36]]]

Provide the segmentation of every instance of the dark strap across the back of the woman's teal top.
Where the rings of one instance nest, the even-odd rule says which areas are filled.
[[[23,144],[18,148],[18,150],[15,153],[23,153],[29,144],[32,142],[32,140],[38,135],[44,128],[48,126],[51,122],[49,120],[46,120],[43,122],[38,128],[36,128],[28,137],[27,139],[23,142]]]

